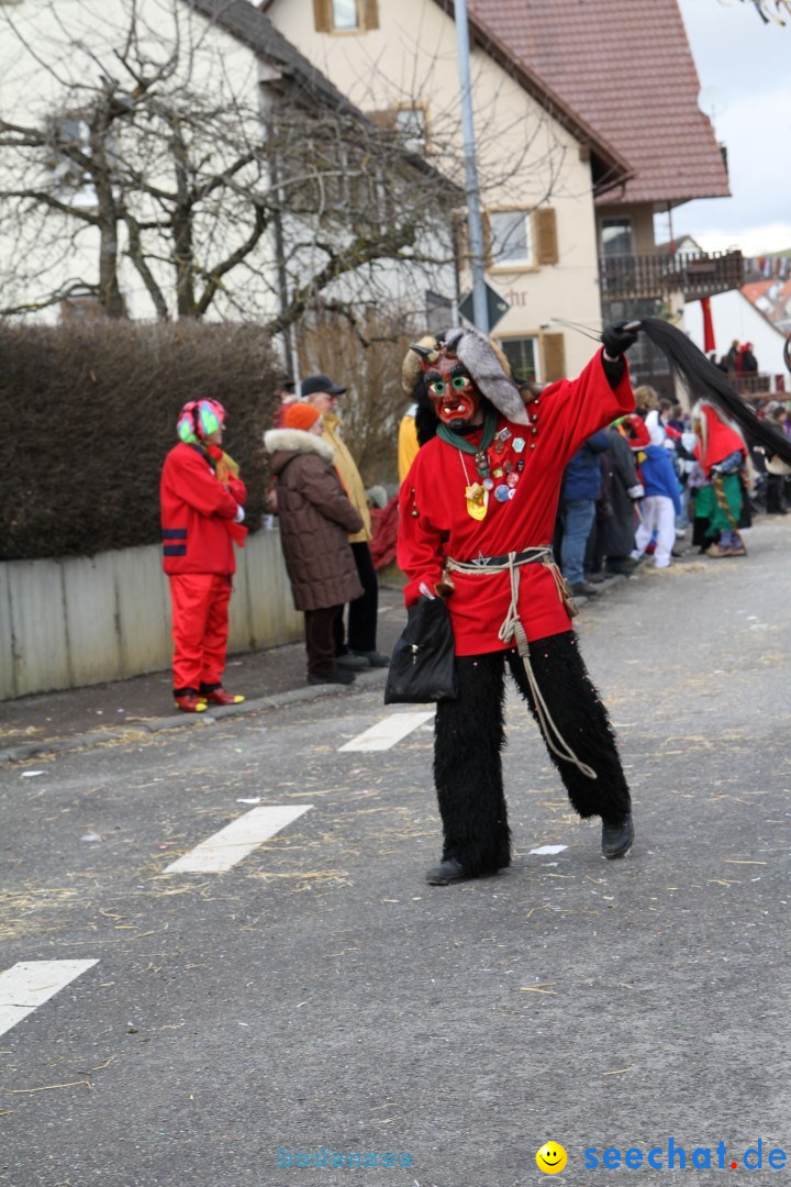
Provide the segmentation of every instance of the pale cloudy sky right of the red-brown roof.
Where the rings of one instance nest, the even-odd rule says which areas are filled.
[[[791,254],[791,23],[764,25],[752,4],[738,0],[678,0],[678,7],[701,106],[728,148],[733,197],[680,207],[674,231],[710,252]]]

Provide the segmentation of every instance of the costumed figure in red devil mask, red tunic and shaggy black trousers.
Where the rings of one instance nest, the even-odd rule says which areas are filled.
[[[421,449],[401,487],[398,564],[407,604],[444,597],[458,698],[436,707],[434,779],[444,850],[433,886],[511,859],[500,750],[508,666],[581,817],[623,857],[634,831],[612,726],[572,629],[551,539],[563,468],[597,430],[634,408],[624,323],[576,380],[523,392],[484,335],[454,329],[409,348],[404,389]]]

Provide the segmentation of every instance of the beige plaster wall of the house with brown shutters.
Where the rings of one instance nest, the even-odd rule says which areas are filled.
[[[449,165],[464,184],[452,19],[434,0],[379,0],[377,30],[317,33],[313,12],[313,0],[274,0],[267,8],[280,32],[362,109],[422,107],[438,167]],[[484,205],[530,210],[544,204],[556,214],[556,265],[490,269],[489,283],[511,305],[495,336],[537,336],[553,317],[598,329],[589,163],[581,159],[578,141],[480,49],[472,52],[471,69]],[[463,291],[468,284],[463,277]],[[576,374],[591,357],[591,341],[561,326],[549,329],[563,334],[566,370]]]

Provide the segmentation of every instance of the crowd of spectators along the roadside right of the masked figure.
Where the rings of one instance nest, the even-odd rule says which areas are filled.
[[[733,349],[749,368],[752,351],[738,343]],[[764,446],[732,440],[721,445],[722,457],[707,459],[704,440],[712,434],[701,412],[694,420],[649,386],[636,388],[634,396],[636,413],[594,433],[566,469],[555,552],[578,596],[598,594],[615,573],[629,577],[645,556],[661,569],[689,546],[713,558],[745,556],[739,529],[753,514],[785,515],[791,503],[791,468]],[[754,411],[791,434],[780,400],[755,401]],[[740,494],[732,518],[717,525],[712,507],[719,514],[722,504],[727,514],[723,483]]]

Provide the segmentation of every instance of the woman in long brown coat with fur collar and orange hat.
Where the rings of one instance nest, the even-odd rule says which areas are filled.
[[[349,544],[363,525],[321,439],[318,408],[292,404],[282,429],[264,433],[276,480],[280,539],[294,605],[305,611],[308,684],[352,684],[353,672],[336,667],[333,623],[342,607],[363,592]]]

